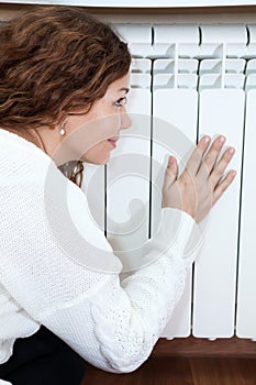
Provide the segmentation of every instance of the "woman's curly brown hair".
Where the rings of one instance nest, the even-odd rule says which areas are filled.
[[[77,7],[36,7],[1,25],[0,42],[3,129],[54,128],[86,113],[131,66],[118,32]]]

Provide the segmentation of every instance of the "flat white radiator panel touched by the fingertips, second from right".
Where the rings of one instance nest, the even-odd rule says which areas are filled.
[[[238,173],[209,216],[201,255],[194,266],[192,329],[194,337],[229,338],[234,334],[244,91],[203,90],[199,110],[200,134],[223,133],[229,145],[236,148],[229,168]]]

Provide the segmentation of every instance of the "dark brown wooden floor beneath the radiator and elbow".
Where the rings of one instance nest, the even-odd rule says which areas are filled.
[[[256,359],[149,358],[135,372],[112,374],[88,365],[81,385],[256,385]]]

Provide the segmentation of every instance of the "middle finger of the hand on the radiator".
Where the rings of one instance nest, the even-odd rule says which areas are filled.
[[[198,170],[199,177],[205,178],[211,174],[224,143],[225,143],[225,138],[223,135],[219,135],[214,140],[203,162],[200,165],[200,169]]]

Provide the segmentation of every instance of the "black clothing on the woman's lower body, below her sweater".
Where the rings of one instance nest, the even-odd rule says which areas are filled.
[[[85,370],[86,361],[41,326],[14,342],[12,356],[0,364],[0,378],[13,385],[80,385]]]

